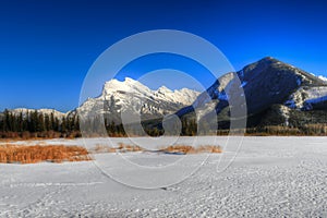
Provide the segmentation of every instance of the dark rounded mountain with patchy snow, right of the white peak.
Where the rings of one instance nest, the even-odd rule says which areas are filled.
[[[243,89],[249,123],[255,120],[258,124],[267,111],[276,109],[274,105],[280,105],[276,110],[283,118],[289,117],[293,110],[327,109],[327,83],[322,77],[267,57],[239,72],[225,74],[202,93],[193,102],[197,119],[205,118],[213,111],[219,116],[222,110],[229,110],[230,99],[241,99],[240,92],[235,92],[235,88]],[[186,107],[177,114],[183,117],[194,109]]]

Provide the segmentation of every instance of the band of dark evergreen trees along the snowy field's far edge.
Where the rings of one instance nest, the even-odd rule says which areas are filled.
[[[104,117],[96,117],[83,121],[84,131],[90,132],[88,136],[102,136],[97,134],[100,132],[100,120]],[[53,113],[47,114],[35,111],[26,113],[12,113],[9,110],[0,117],[0,137],[1,138],[32,138],[32,137],[81,137],[80,119],[76,113],[66,117],[56,117]],[[194,135],[228,135],[229,130],[207,131],[206,122],[202,122],[199,126],[194,119],[181,119],[181,130],[178,128],[170,130],[169,134],[181,132],[182,136]],[[129,129],[129,136],[143,136],[144,132],[140,132],[140,128],[124,126],[116,123],[109,118],[105,118],[105,130],[108,136],[123,137],[128,136],[125,129]],[[87,130],[88,129],[88,130]],[[144,131],[150,136],[160,136],[165,134],[165,130],[160,124],[143,125]],[[304,124],[301,126],[282,126],[282,125],[265,125],[257,128],[247,128],[246,135],[327,135],[326,124]]]

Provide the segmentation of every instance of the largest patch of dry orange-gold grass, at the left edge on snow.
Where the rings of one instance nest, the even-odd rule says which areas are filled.
[[[1,145],[0,162],[35,164],[40,161],[84,161],[90,160],[88,152],[80,146],[64,145]]]

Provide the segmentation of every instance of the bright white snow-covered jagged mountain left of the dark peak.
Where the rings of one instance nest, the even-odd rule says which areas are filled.
[[[111,80],[104,85],[99,97],[88,98],[77,111],[82,117],[107,114],[116,122],[120,122],[124,111],[141,114],[144,120],[155,119],[192,105],[198,94],[187,88],[171,90],[165,86],[152,90],[129,77],[122,82]]]

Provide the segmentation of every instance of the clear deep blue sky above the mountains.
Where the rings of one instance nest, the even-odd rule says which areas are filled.
[[[327,76],[326,11],[327,3],[315,0],[2,0],[0,110],[75,108],[95,59],[116,41],[149,29],[202,36],[237,70],[272,56]],[[154,63],[125,70],[146,72]],[[156,66],[177,66],[169,57],[165,63]]]

